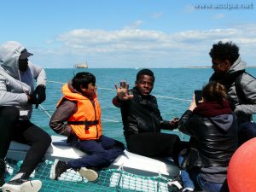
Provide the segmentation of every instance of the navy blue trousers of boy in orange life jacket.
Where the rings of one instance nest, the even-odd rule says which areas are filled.
[[[88,154],[77,160],[69,160],[67,166],[73,169],[109,166],[113,160],[124,153],[125,149],[123,143],[106,136],[98,140],[73,140],[70,144]]]

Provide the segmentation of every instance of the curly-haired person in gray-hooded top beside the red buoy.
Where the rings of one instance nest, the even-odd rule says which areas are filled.
[[[241,60],[239,48],[232,42],[213,44],[209,55],[214,73],[210,81],[224,84],[228,100],[238,123],[238,143],[256,137],[256,79],[246,72],[247,64]]]

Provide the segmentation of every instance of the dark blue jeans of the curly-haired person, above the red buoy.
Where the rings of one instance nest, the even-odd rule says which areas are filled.
[[[256,137],[256,124],[253,122],[242,123],[238,125],[238,145],[247,142]]]

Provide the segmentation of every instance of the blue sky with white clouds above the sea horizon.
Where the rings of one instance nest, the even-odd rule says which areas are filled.
[[[42,67],[211,67],[232,41],[256,66],[253,0],[2,0],[0,44],[18,41]]]

